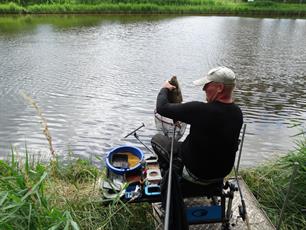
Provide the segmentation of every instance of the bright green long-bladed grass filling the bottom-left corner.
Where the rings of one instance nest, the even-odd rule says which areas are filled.
[[[0,161],[0,226],[3,229],[78,229],[69,211],[52,207],[46,194],[48,172],[41,164],[24,164],[12,152],[11,161]]]

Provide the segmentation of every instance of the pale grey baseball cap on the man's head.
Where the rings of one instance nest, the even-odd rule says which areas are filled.
[[[205,77],[195,80],[193,84],[204,87],[206,84],[210,82],[219,82],[225,85],[235,85],[236,84],[235,73],[233,72],[233,70],[225,66],[219,66],[211,69]]]

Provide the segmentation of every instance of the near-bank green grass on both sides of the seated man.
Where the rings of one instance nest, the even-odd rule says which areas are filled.
[[[49,164],[35,160],[0,160],[0,229],[154,229],[151,206],[106,203],[99,190],[103,170],[86,160]],[[281,229],[306,226],[306,140],[277,161],[241,172],[274,225],[292,175],[298,170],[284,212]]]

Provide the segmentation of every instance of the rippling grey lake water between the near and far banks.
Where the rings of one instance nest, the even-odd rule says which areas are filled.
[[[238,77],[247,131],[242,166],[294,149],[306,121],[306,20],[214,16],[0,17],[0,157],[11,146],[50,157],[37,102],[58,155],[94,158],[132,144],[142,123],[150,145],[162,83],[176,75],[184,101],[203,100],[192,81],[225,65]],[[294,126],[294,127],[292,127]],[[145,149],[144,149],[145,150]]]

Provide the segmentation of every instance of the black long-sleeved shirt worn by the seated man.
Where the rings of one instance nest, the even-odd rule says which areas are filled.
[[[240,108],[218,101],[169,103],[168,92],[166,88],[160,90],[156,110],[162,116],[190,124],[181,149],[184,165],[199,178],[225,177],[234,165],[238,149],[243,123]]]

